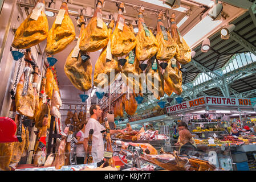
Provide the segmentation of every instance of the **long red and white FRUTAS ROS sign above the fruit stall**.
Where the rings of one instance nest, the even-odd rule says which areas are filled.
[[[184,109],[190,109],[198,106],[249,106],[251,101],[248,98],[229,98],[204,96],[194,100],[185,101],[181,104],[166,107],[166,113],[175,113]]]

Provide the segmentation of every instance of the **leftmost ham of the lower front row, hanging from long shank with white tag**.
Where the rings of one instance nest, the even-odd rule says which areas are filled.
[[[82,11],[81,11],[82,13]],[[79,42],[82,36],[82,32],[85,29],[85,22],[83,14],[80,15],[80,34]],[[77,45],[77,46],[78,46]],[[80,51],[78,55],[74,55],[76,47],[68,55],[66,63],[64,65],[64,72],[66,73],[68,79],[72,82],[75,88],[81,91],[87,91],[92,88],[92,64],[90,57],[87,57],[87,60],[84,60],[83,56],[88,56],[86,52]]]

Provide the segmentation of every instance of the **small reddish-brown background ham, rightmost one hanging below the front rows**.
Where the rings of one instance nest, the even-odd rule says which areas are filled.
[[[129,97],[129,98],[127,98]],[[133,93],[124,94],[122,97],[124,103],[124,110],[128,115],[134,115],[137,110],[137,101]]]

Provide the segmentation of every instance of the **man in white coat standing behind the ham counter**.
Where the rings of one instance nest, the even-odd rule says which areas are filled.
[[[92,158],[94,162],[98,163],[97,166],[100,166],[103,156],[104,156],[104,143],[102,133],[105,132],[105,127],[100,124],[97,119],[100,118],[102,110],[99,105],[92,105],[90,107],[91,118],[86,124],[86,129],[84,131],[84,150],[87,151],[88,146],[88,136],[90,129],[94,129],[94,134],[92,135]],[[124,133],[124,130],[109,130],[109,133]]]

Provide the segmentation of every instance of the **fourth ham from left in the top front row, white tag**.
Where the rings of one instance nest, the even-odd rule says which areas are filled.
[[[124,3],[118,5],[118,19],[116,28],[111,35],[112,55],[120,57],[127,55],[136,46],[136,37],[125,23],[123,16]]]

